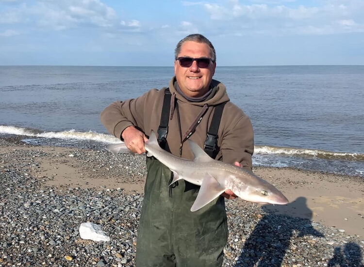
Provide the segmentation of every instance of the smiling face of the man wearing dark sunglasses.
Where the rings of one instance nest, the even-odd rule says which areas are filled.
[[[210,47],[204,43],[187,41],[182,44],[177,57],[211,58]],[[207,68],[197,66],[196,60],[191,67],[182,67],[179,60],[174,62],[174,73],[182,92],[188,97],[203,96],[208,90],[215,74],[216,63],[210,62]]]

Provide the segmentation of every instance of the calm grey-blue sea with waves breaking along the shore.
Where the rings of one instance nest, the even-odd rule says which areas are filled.
[[[168,86],[173,67],[0,66],[0,138],[102,150],[116,100]],[[364,66],[216,67],[254,128],[254,166],[364,178]]]

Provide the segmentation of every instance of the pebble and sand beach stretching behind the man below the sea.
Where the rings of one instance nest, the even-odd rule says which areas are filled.
[[[0,139],[0,267],[132,267],[145,156]],[[224,267],[364,267],[364,180],[255,168],[285,206],[227,200]],[[93,222],[108,242],[81,239]]]

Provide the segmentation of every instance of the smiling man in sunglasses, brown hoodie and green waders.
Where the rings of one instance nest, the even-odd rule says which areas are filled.
[[[167,119],[166,139],[161,142],[164,149],[193,159],[185,141],[190,138],[204,148],[215,109],[225,103],[219,119],[219,150],[215,159],[251,170],[254,146],[250,120],[230,102],[226,87],[212,79],[215,68],[211,42],[200,34],[188,35],[175,50],[176,76],[169,83],[170,102],[167,100],[169,116],[161,119],[166,91],[163,88],[152,89],[137,99],[114,102],[102,112],[101,121],[130,150],[143,153],[147,135],[151,130],[157,133],[161,121]],[[199,186],[184,180],[168,186],[173,174],[153,157],[147,158],[147,168],[136,266],[221,266],[228,238],[224,198],[191,212]],[[229,199],[236,197],[230,190],[223,195]]]

